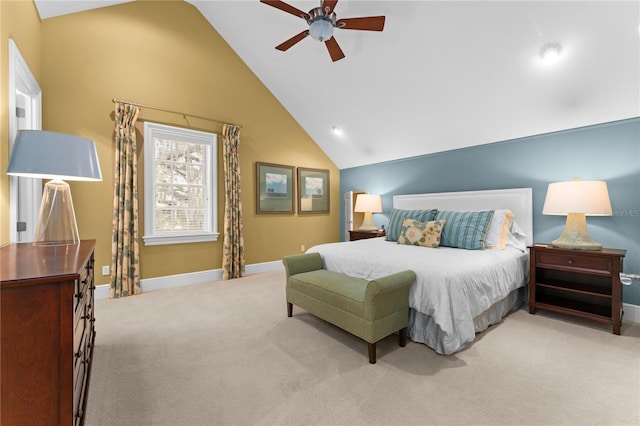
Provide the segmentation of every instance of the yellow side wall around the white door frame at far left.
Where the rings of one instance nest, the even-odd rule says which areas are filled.
[[[9,243],[9,39],[42,86],[40,17],[32,1],[0,1],[0,246]]]

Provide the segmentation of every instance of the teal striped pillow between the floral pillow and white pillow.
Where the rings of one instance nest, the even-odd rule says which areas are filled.
[[[440,245],[467,250],[484,250],[493,210],[477,212],[438,211],[436,220],[446,220]]]

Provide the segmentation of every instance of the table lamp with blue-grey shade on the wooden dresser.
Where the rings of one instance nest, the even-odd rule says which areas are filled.
[[[91,139],[42,130],[19,130],[7,174],[53,179],[44,187],[34,245],[80,242],[71,190],[64,180],[102,180],[98,153]]]

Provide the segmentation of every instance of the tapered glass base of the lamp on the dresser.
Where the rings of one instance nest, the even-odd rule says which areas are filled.
[[[79,242],[69,184],[58,179],[51,180],[44,186],[33,245],[56,246]]]

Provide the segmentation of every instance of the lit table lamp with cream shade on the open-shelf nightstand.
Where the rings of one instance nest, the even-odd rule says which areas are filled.
[[[586,216],[613,214],[607,183],[581,181],[578,178],[573,178],[569,182],[550,183],[542,214],[567,216],[564,231],[557,240],[551,242],[553,246],[600,250],[602,244],[594,242],[589,236]]]

